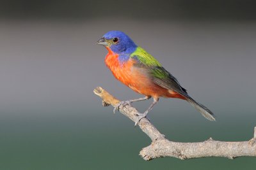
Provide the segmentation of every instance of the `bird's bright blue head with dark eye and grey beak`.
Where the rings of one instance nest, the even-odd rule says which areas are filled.
[[[113,52],[118,54],[132,53],[137,45],[122,31],[109,31],[97,41],[97,44],[108,46]]]

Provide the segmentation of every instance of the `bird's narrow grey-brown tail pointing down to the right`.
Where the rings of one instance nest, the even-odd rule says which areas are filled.
[[[206,108],[203,104],[197,103],[194,99],[192,99],[189,96],[186,96],[186,100],[194,107],[196,110],[198,110],[202,116],[207,118],[208,120],[215,121],[214,114]]]

